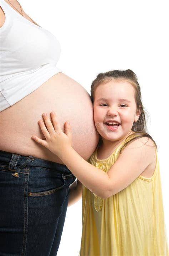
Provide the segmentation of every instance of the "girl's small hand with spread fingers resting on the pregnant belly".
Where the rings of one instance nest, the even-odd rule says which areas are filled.
[[[71,126],[70,123],[67,121],[65,123],[65,133],[63,133],[55,112],[51,112],[50,115],[52,118],[53,125],[46,113],[42,115],[43,119],[45,120],[46,126],[43,120],[38,121],[38,124],[46,140],[40,139],[35,135],[32,136],[32,139],[34,139],[34,141],[41,144],[42,146],[46,147],[48,150],[50,150],[58,157],[61,157],[61,155],[64,154],[64,149],[67,147],[71,147]]]

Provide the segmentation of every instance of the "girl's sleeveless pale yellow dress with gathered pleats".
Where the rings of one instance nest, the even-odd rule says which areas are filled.
[[[89,163],[108,172],[123,143],[104,160],[97,159],[96,149]],[[80,256],[169,255],[157,150],[153,176],[138,176],[110,198],[83,186],[82,219]]]

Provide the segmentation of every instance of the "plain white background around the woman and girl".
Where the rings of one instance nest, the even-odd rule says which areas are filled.
[[[167,0],[20,0],[24,11],[61,44],[57,67],[90,91],[99,72],[132,69],[149,113],[148,132],[158,145],[165,222],[169,237],[168,8]],[[78,107],[78,106],[77,106]],[[58,256],[76,256],[81,201],[68,208]]]

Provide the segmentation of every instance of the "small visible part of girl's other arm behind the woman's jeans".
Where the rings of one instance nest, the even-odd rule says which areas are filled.
[[[82,183],[75,180],[70,186],[70,194],[68,200],[68,207],[75,204],[82,197]]]

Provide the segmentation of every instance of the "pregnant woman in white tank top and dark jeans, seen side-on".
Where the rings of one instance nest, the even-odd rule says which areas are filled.
[[[62,129],[70,120],[72,146],[85,160],[98,143],[90,96],[58,70],[59,57],[54,35],[17,0],[0,0],[0,255],[56,255],[68,194],[80,186],[56,155],[31,139],[44,139],[41,113],[55,111]]]

